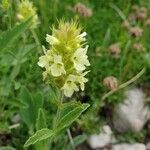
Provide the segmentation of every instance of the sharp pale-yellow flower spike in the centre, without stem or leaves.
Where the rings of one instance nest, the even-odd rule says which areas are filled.
[[[60,21],[58,28],[52,28],[52,35],[46,35],[50,48],[45,47],[38,65],[44,68],[43,79],[59,87],[65,96],[84,90],[88,81],[86,67],[90,65],[87,56],[86,32],[76,22]]]

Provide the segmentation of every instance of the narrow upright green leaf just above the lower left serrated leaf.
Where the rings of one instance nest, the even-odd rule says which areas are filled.
[[[46,118],[43,109],[39,109],[38,118],[36,120],[36,129],[40,130],[42,128],[46,128]]]

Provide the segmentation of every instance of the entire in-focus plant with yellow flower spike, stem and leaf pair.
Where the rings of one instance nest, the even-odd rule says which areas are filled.
[[[55,137],[60,131],[68,128],[89,104],[79,102],[63,103],[63,95],[71,97],[75,91],[84,90],[88,81],[85,71],[90,65],[87,56],[88,45],[86,45],[86,32],[81,33],[81,28],[76,22],[59,22],[58,28],[52,28],[52,35],[46,35],[49,48],[43,46],[44,55],[39,57],[38,65],[44,69],[43,80],[57,87],[61,91],[58,102],[54,128],[42,128],[32,135],[25,147],[35,144],[37,141]],[[71,132],[67,130],[68,137],[73,143]],[[74,149],[74,144],[72,144]]]

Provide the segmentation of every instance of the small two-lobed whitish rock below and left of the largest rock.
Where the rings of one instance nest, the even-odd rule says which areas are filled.
[[[100,134],[91,135],[88,139],[88,143],[92,149],[105,147],[115,141],[111,128],[108,125],[103,126]]]

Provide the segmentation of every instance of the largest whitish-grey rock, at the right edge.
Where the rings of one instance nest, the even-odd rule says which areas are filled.
[[[150,118],[150,110],[145,106],[144,93],[133,88],[126,93],[126,99],[115,108],[113,124],[117,131],[140,131]]]

